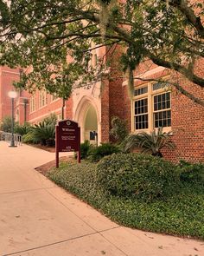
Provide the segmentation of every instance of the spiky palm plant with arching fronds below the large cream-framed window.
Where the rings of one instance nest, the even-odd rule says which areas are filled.
[[[143,153],[150,152],[152,155],[163,157],[162,148],[175,148],[175,143],[171,141],[171,131],[163,132],[163,128],[155,129],[153,132],[141,132],[137,135],[129,135],[124,140],[124,152],[129,152],[132,148],[142,148]]]

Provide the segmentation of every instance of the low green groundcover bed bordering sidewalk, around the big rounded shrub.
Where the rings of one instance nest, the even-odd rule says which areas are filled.
[[[123,226],[204,239],[204,186],[181,182],[165,200],[113,196],[96,185],[96,164],[62,163],[48,178]]]

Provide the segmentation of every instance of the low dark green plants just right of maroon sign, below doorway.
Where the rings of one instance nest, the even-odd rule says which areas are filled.
[[[102,159],[105,155],[119,153],[119,148],[110,143],[103,143],[99,147],[92,147],[88,151],[88,159],[92,162],[97,162]]]

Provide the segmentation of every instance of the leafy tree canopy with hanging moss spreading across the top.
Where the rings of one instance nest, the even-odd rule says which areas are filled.
[[[0,0],[0,65],[32,66],[18,86],[67,98],[76,82],[87,86],[103,74],[104,58],[89,65],[92,49],[120,45],[130,79],[149,58],[204,88],[194,72],[204,57],[202,20],[203,0]]]

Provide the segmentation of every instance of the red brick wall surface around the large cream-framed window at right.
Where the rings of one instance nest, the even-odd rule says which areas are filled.
[[[195,72],[201,77],[204,76],[204,71],[202,69],[204,60],[197,62],[195,67]],[[143,73],[145,67],[147,69],[148,65],[150,69],[156,68],[156,65],[149,63],[142,63],[137,68],[138,72]],[[161,71],[154,75],[150,75],[147,78],[159,78],[165,75],[171,75],[173,82],[178,82],[182,85],[184,89],[187,89],[190,93],[195,96],[200,97],[204,100],[204,89],[192,82],[189,82],[182,75],[175,73]],[[142,84],[144,82],[136,82],[136,85]],[[194,103],[185,95],[182,95],[176,89],[172,91],[171,98],[171,109],[172,109],[172,140],[175,142],[176,149],[169,150],[164,149],[164,157],[170,161],[202,161],[204,162],[204,107]],[[125,116],[131,116],[131,108],[126,109]]]

